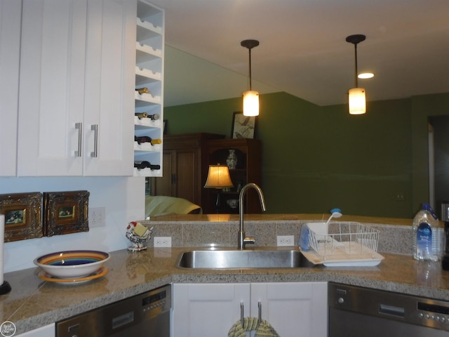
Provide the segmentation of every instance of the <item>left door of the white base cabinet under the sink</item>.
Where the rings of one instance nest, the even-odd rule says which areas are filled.
[[[173,337],[227,336],[250,310],[250,284],[173,284]]]

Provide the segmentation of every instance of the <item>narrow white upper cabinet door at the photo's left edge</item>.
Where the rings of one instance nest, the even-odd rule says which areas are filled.
[[[0,1],[0,176],[16,175],[22,1]]]

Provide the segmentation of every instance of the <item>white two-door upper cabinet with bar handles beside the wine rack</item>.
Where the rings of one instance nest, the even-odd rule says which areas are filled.
[[[136,1],[24,0],[18,176],[132,176]]]

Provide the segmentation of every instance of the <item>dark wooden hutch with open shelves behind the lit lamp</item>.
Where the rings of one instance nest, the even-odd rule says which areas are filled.
[[[215,201],[217,200],[217,190],[213,188],[203,188],[203,213],[239,213],[239,204],[234,207],[229,206],[227,201],[230,199],[239,199],[239,192],[241,187],[247,183],[255,183],[262,187],[261,184],[261,144],[260,140],[248,138],[234,138],[234,139],[220,139],[208,140],[207,153],[208,165],[227,164],[227,157],[229,150],[234,150],[236,154],[236,168],[229,169],[232,183],[234,187],[229,190],[220,190],[220,209],[217,210]],[[204,183],[206,183],[206,176],[204,176]],[[260,200],[255,190],[250,189],[246,192],[244,199],[245,213],[261,213]]]

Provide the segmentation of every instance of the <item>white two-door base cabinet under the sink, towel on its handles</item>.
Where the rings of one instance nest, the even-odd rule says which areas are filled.
[[[227,336],[241,308],[258,317],[260,303],[279,336],[326,337],[327,297],[327,282],[173,284],[172,336]]]

